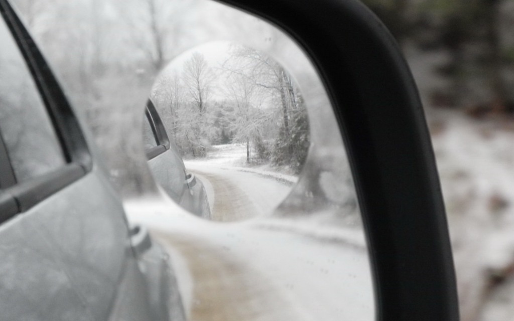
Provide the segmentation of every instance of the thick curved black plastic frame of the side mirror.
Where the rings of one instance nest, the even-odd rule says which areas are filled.
[[[219,1],[283,29],[320,73],[353,169],[377,319],[458,320],[430,137],[412,75],[391,34],[355,0]]]

